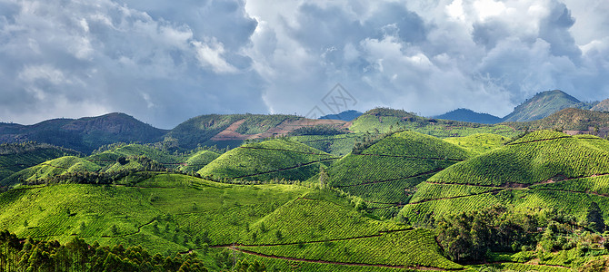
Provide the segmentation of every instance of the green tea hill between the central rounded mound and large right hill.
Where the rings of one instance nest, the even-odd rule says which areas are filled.
[[[377,214],[392,216],[418,183],[467,158],[467,151],[449,142],[397,132],[334,162],[326,170],[327,184],[363,198]]]

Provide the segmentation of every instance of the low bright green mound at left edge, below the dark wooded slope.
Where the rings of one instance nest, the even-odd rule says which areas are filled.
[[[20,180],[38,180],[70,172],[98,171],[101,167],[91,161],[75,156],[65,156],[55,160],[47,160],[43,163],[20,170],[10,177],[2,180],[3,186],[15,185]]]

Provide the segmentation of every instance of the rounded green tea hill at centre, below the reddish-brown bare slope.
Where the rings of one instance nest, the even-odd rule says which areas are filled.
[[[245,144],[198,171],[214,180],[307,180],[319,170],[319,162],[336,157],[296,141],[284,139]]]

